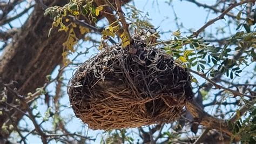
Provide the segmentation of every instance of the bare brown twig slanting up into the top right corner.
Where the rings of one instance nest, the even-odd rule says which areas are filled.
[[[223,19],[224,16],[229,12],[231,11],[233,8],[235,8],[236,6],[239,6],[239,5],[242,5],[242,4],[245,4],[245,3],[254,3],[255,0],[247,0],[247,1],[241,1],[239,3],[234,3],[234,4],[231,4],[225,11],[223,11],[223,13],[221,13],[218,17],[215,17],[211,20],[209,20],[205,25],[203,25],[199,30],[193,32],[193,35],[198,37],[199,33],[201,33],[202,31],[204,31],[208,26],[212,25],[213,23],[215,23],[217,20],[220,20],[220,19]]]

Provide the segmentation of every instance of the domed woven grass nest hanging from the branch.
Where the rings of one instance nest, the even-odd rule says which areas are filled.
[[[190,76],[163,50],[133,36],[130,49],[106,47],[79,66],[68,94],[76,116],[91,129],[170,122],[193,98]]]

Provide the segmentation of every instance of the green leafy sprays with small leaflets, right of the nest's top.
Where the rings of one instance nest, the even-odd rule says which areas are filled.
[[[173,40],[165,45],[164,50],[184,66],[196,67],[197,71],[210,74],[212,77],[215,73],[224,73],[233,79],[242,72],[241,65],[248,66],[250,61],[256,59],[256,32],[237,32],[223,47],[210,45],[204,38],[182,37],[179,31],[173,32],[172,35]],[[242,52],[243,56],[234,60],[233,57],[239,52]]]

